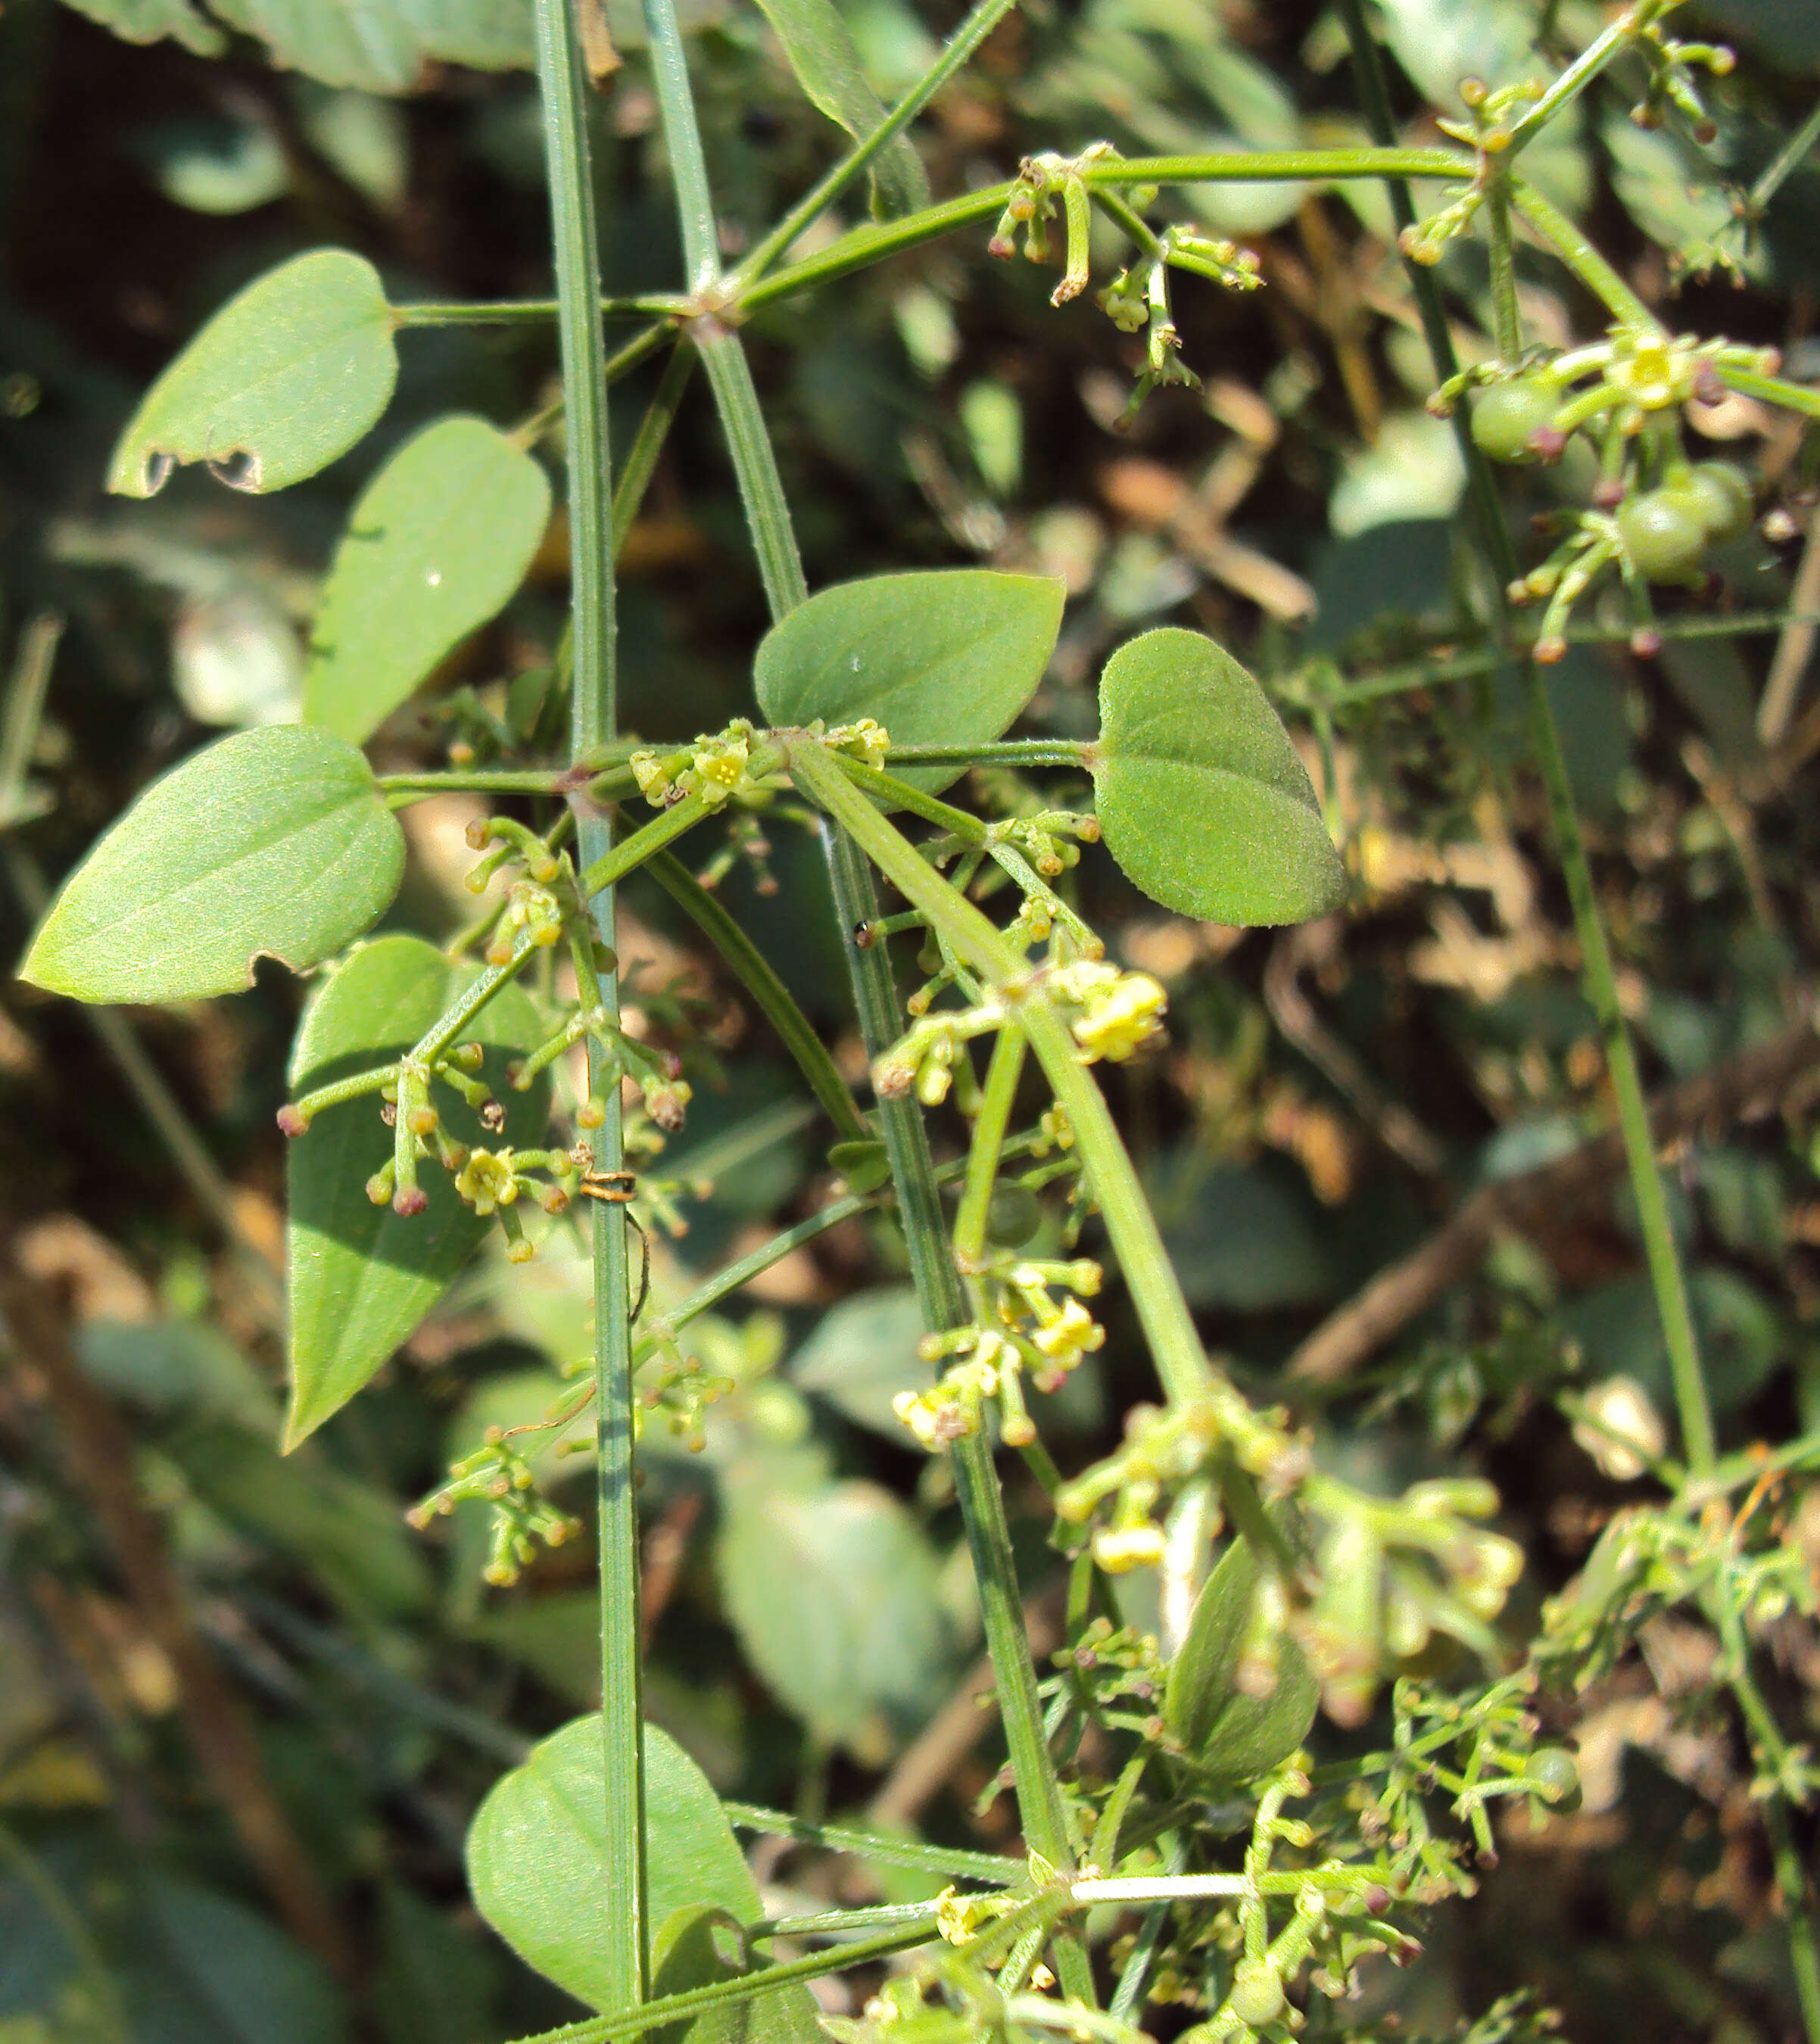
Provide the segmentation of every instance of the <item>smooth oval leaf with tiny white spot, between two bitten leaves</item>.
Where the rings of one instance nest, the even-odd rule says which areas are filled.
[[[354,505],[317,611],[305,724],[360,744],[524,580],[550,478],[485,419],[438,419]]]

